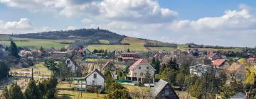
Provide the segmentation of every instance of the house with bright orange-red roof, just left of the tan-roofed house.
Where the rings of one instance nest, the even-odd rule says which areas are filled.
[[[230,64],[226,59],[216,59],[213,61],[213,66],[216,66],[217,69],[227,69]]]

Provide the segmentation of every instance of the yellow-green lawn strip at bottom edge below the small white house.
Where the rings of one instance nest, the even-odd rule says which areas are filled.
[[[81,92],[80,91],[58,91],[58,98],[59,99],[76,99],[80,98]],[[85,93],[82,92],[82,98],[86,99],[103,99],[106,94],[99,94],[97,93]]]

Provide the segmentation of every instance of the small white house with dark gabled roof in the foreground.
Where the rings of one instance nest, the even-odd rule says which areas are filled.
[[[85,76],[85,81],[87,90],[95,86],[97,88],[102,88],[102,91],[104,90],[105,77],[98,69],[95,69],[90,74],[87,74],[87,76]]]

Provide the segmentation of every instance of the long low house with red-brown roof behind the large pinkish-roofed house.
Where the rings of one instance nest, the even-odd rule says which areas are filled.
[[[124,52],[121,57],[117,57],[118,61],[133,62],[137,58],[136,52]]]

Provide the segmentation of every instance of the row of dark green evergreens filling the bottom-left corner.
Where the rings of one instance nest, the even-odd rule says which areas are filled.
[[[54,99],[57,98],[57,84],[58,81],[54,76],[38,84],[31,78],[24,93],[17,83],[12,83],[9,88],[5,86],[2,93],[5,99]]]

